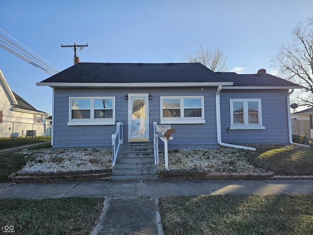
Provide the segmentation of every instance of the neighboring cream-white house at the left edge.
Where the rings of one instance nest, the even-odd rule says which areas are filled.
[[[47,135],[48,116],[14,93],[0,71],[0,138]]]

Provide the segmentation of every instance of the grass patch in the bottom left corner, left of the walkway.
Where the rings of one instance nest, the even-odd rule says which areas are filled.
[[[22,235],[87,235],[104,198],[0,199],[0,227]],[[12,227],[11,227],[12,228]]]

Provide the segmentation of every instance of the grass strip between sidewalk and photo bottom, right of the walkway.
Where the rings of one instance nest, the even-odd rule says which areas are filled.
[[[167,196],[164,235],[313,235],[312,195]]]

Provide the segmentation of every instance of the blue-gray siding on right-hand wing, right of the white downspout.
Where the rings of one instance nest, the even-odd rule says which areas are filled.
[[[265,130],[230,130],[230,99],[260,98]],[[225,143],[289,143],[287,90],[222,90],[221,128]]]

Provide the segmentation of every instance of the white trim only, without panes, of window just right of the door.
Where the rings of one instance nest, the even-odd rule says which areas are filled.
[[[185,118],[183,99],[184,98],[200,98],[201,99],[201,116],[194,118]],[[179,118],[163,118],[163,99],[179,99],[180,100],[180,116]],[[160,123],[161,124],[198,124],[205,123],[204,119],[204,96],[160,96]]]

